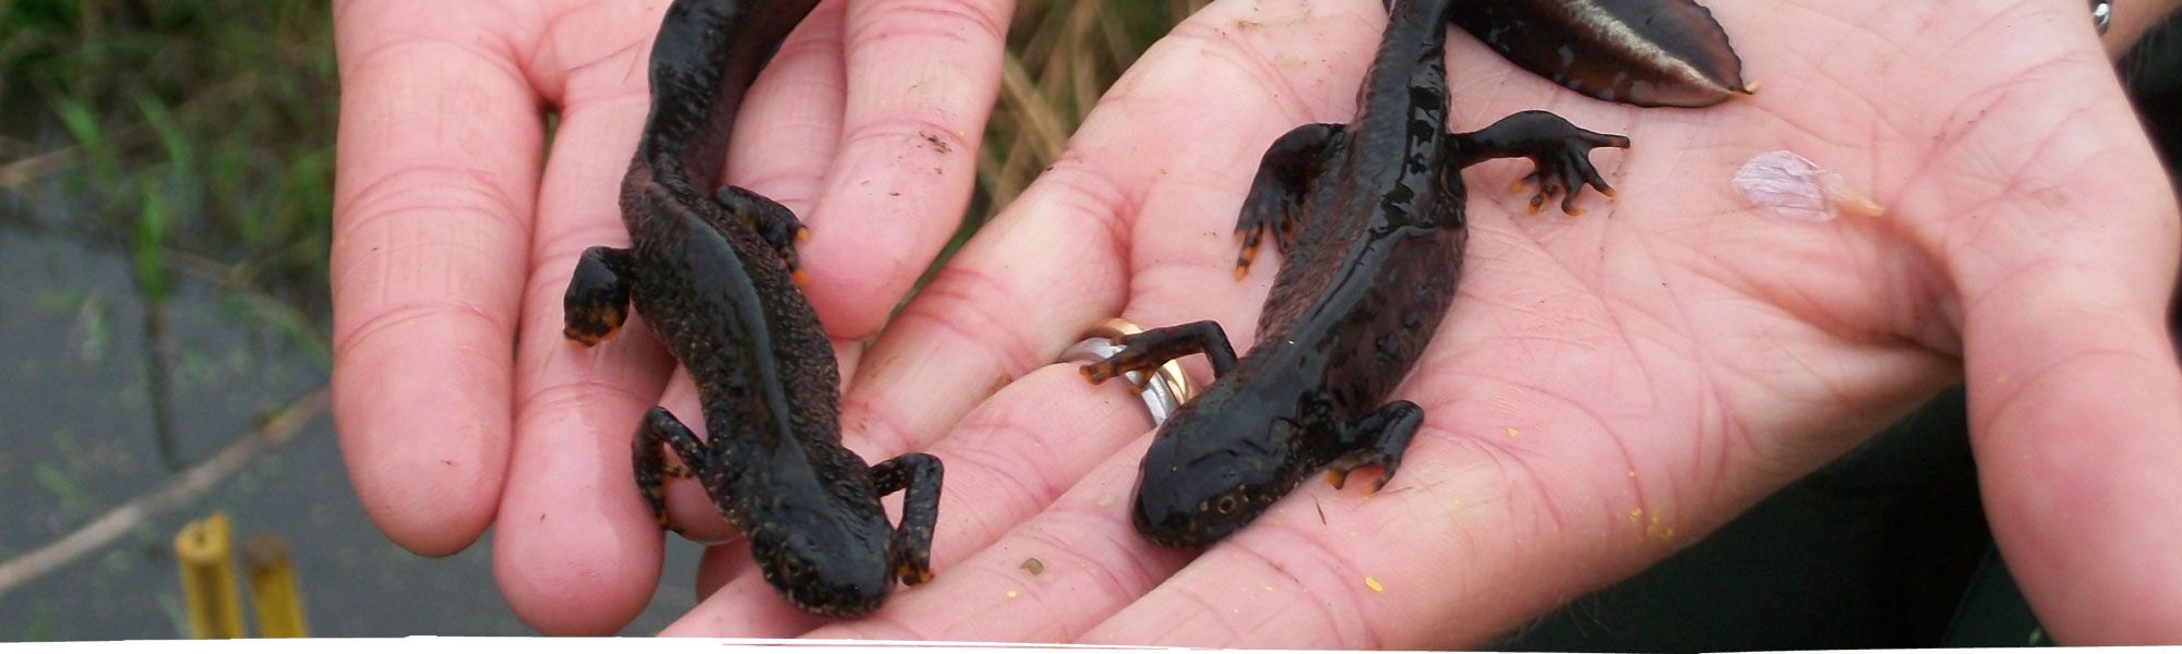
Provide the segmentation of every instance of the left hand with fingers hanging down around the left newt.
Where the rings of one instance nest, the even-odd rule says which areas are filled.
[[[502,595],[554,634],[611,632],[650,600],[661,541],[628,438],[655,403],[696,414],[644,329],[598,349],[561,338],[576,257],[628,242],[615,196],[666,4],[336,2],[334,416],[349,477],[417,554],[460,552],[497,523]],[[820,2],[744,105],[727,181],[810,225],[805,294],[844,377],[969,203],[1008,4]],[[672,510],[724,534],[687,491]]]

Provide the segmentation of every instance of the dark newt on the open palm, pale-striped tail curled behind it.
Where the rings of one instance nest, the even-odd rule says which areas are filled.
[[[1425,412],[1388,397],[1455,299],[1462,168],[1532,159],[1534,211],[1567,192],[1560,207],[1575,214],[1582,185],[1612,196],[1591,150],[1626,148],[1626,137],[1545,111],[1447,133],[1447,22],[1591,96],[1709,105],[1743,92],[1739,59],[1689,0],[1399,0],[1388,11],[1355,120],[1279,137],[1244,198],[1237,277],[1266,231],[1283,257],[1257,347],[1237,360],[1220,325],[1198,320],[1126,336],[1119,353],[1082,368],[1104,382],[1191,353],[1213,366],[1215,382],[1161,425],[1143,456],[1132,521],[1154,543],[1211,545],[1320,469],[1335,488],[1366,467],[1379,467],[1372,491],[1394,477]],[[1630,26],[1628,15],[1652,24]],[[1562,55],[1534,57],[1554,48]],[[1586,63],[1564,68],[1571,57]],[[1599,61],[1621,65],[1608,72]]]

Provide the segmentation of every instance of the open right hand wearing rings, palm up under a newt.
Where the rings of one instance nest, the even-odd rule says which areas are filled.
[[[1050,362],[1108,316],[1250,340],[1272,266],[1233,281],[1231,231],[1257,157],[1353,116],[1386,13],[1194,15],[866,358],[849,397],[879,416],[866,429],[947,460],[938,578],[810,634],[1477,645],[1968,379],[1988,514],[2049,632],[2173,641],[2175,201],[2084,4],[1711,4],[1763,89],[1698,111],[1578,98],[1451,35],[1455,131],[1554,109],[1630,135],[1595,157],[1619,198],[1523,216],[1506,187],[1525,164],[1471,170],[1460,296],[1396,392],[1427,414],[1399,477],[1375,497],[1307,482],[1202,556],[1128,523],[1139,399]],[[1887,211],[1748,207],[1730,177],[1776,148]],[[812,626],[733,556],[668,632]]]

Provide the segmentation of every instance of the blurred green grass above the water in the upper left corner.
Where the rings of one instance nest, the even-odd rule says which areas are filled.
[[[325,2],[0,2],[0,181],[129,253],[148,305],[175,270],[325,301],[334,55]],[[44,111],[39,111],[44,109]],[[37,133],[68,142],[24,142]],[[24,157],[24,159],[13,159]],[[11,161],[13,159],[13,161]],[[59,201],[55,201],[59,198]]]

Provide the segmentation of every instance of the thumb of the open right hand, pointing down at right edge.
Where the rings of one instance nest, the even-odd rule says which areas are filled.
[[[2055,641],[2173,641],[2182,371],[2165,320],[2182,229],[2121,94],[2073,98],[2005,107],[2058,129],[1955,231],[1979,488]]]

